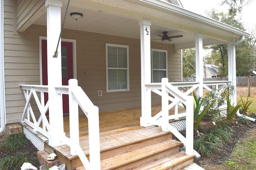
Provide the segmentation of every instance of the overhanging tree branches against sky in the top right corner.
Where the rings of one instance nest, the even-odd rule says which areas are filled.
[[[242,12],[243,6],[250,4],[254,0],[222,0],[221,5],[228,4],[229,12],[236,14]]]

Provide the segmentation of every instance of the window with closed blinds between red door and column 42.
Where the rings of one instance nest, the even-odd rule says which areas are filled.
[[[129,47],[106,44],[107,92],[129,90]]]

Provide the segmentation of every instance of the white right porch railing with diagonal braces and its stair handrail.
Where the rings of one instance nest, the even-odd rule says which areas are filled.
[[[203,87],[209,91],[212,88],[221,89],[227,81],[209,81],[204,82]],[[221,85],[221,86],[220,86]],[[193,90],[199,87],[198,82],[174,82],[169,83],[167,78],[162,78],[162,83],[146,84],[146,90],[150,90],[160,96],[162,96],[162,110],[155,116],[146,115],[148,124],[161,126],[163,131],[170,131],[176,136],[185,146],[186,154],[193,154],[193,134],[194,134],[194,99],[190,94]],[[212,86],[209,88],[208,86]],[[151,94],[151,93],[148,93]],[[147,98],[151,98],[148,95]],[[169,104],[170,103],[170,104]],[[186,105],[186,112],[178,112],[178,105],[183,107]],[[169,115],[169,110],[174,108],[174,114]],[[169,124],[170,120],[178,120],[179,118],[186,117],[186,138]]]

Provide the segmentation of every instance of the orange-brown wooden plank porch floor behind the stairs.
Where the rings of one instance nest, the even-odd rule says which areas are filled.
[[[152,115],[154,116],[161,110],[161,105],[152,106]],[[180,108],[179,108],[180,110]],[[185,111],[185,110],[184,110]],[[170,114],[174,114],[174,110],[170,110]],[[140,126],[141,108],[129,108],[99,113],[100,133],[109,130],[117,130],[121,128],[135,128]],[[79,134],[80,136],[88,135],[88,119],[85,114],[79,115]],[[69,132],[69,116],[64,116],[64,132],[66,136],[70,136]]]

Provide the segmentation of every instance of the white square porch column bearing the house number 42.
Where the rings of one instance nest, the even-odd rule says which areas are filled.
[[[151,90],[146,90],[145,84],[151,83],[151,21],[140,20],[140,58],[141,58],[141,112],[140,126],[150,126],[147,120],[151,117]]]

